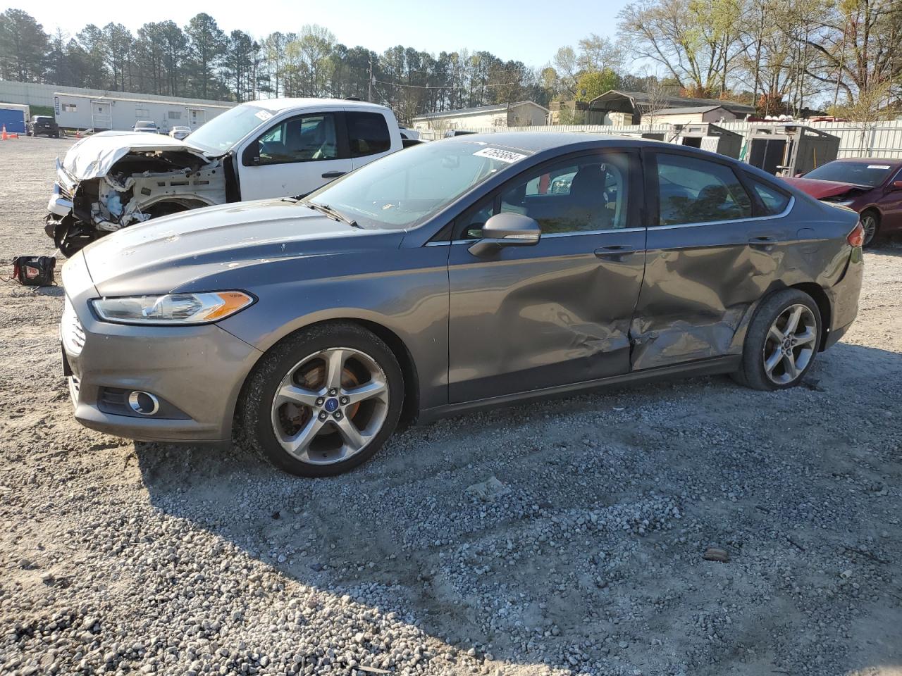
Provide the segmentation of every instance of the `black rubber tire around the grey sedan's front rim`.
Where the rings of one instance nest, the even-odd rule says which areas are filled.
[[[382,370],[388,383],[385,418],[382,427],[373,438],[360,451],[345,460],[330,464],[302,461],[284,449],[276,437],[273,428],[276,391],[280,388],[282,379],[309,355],[336,348],[363,352]],[[267,352],[254,367],[244,384],[238,405],[236,416],[238,441],[245,448],[253,449],[276,468],[290,474],[300,477],[335,476],[369,460],[382,448],[398,425],[403,403],[403,375],[398,360],[388,345],[374,333],[356,324],[319,324],[285,338]],[[353,414],[349,413],[348,417],[353,418]],[[331,424],[331,421],[327,423]]]

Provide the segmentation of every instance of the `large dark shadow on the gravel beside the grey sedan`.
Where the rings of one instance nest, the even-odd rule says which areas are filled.
[[[900,381],[902,355],[839,343],[803,388],[687,379],[459,416],[325,480],[236,447],[135,448],[154,507],[300,589],[396,612],[428,636],[428,672],[456,650],[524,674],[846,672],[898,662],[879,582],[897,558],[849,547],[902,534],[898,491],[870,489],[902,478]],[[858,428],[833,415],[850,406]],[[711,544],[732,562],[705,561]],[[811,628],[851,603],[844,634]]]

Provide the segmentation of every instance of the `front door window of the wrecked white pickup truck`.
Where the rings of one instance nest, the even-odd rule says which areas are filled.
[[[336,160],[336,118],[332,113],[292,117],[257,139],[260,164]]]

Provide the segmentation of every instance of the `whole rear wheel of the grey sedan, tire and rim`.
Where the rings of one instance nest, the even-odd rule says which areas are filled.
[[[797,288],[772,294],[751,320],[736,379],[755,389],[795,387],[815,362],[821,332],[812,297]]]

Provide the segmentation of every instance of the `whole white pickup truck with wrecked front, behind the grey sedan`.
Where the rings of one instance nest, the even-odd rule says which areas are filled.
[[[70,256],[103,234],[154,216],[306,195],[403,146],[388,108],[327,98],[236,105],[183,141],[100,132],[57,160],[45,231]]]

